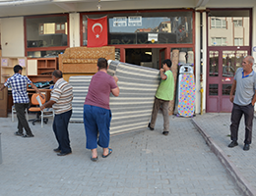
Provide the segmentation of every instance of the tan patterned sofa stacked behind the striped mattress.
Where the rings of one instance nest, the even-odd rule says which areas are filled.
[[[66,48],[64,54],[59,55],[59,70],[67,81],[73,75],[92,75],[97,72],[96,63],[100,57],[114,60],[115,48],[113,46]]]

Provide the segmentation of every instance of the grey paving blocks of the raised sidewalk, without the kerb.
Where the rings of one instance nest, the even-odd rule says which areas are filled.
[[[253,120],[254,126],[252,131],[251,149],[249,151],[243,151],[242,148],[245,134],[244,118],[241,119],[238,130],[239,145],[234,148],[227,147],[227,145],[231,142],[229,137],[230,115],[230,113],[208,113],[204,114],[203,116],[197,116],[193,119],[193,121],[198,124],[203,131],[205,131],[214,140],[214,142],[216,142],[216,144],[224,151],[228,161],[235,166],[242,177],[244,177],[252,188],[256,190],[256,151],[254,149],[254,140],[256,139],[256,119]],[[228,186],[226,186],[226,188],[230,189]]]

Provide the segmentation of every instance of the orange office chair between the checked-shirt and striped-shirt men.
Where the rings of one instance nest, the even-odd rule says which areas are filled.
[[[45,98],[42,99],[37,93],[32,95],[32,105],[35,105],[35,107],[31,107],[29,111],[36,113],[36,119],[30,120],[33,125],[35,122],[41,122],[41,127],[43,127],[43,123],[48,123],[48,119],[44,119],[44,117],[54,117],[54,111],[52,108],[45,108],[43,111],[40,110],[40,106],[44,103]]]

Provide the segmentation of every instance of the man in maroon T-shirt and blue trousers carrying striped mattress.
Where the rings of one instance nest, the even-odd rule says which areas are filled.
[[[107,73],[108,65],[104,58],[97,60],[98,72],[92,77],[84,105],[84,124],[87,148],[92,151],[91,160],[97,161],[97,145],[103,149],[102,158],[108,157],[112,149],[108,147],[111,122],[109,94],[119,95],[118,78]],[[97,139],[97,132],[99,133]]]

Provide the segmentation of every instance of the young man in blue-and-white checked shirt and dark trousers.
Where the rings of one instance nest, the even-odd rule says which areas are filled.
[[[25,110],[29,107],[30,99],[27,93],[27,84],[31,84],[32,88],[40,94],[44,99],[44,96],[39,92],[36,86],[32,83],[28,76],[22,75],[23,67],[16,65],[14,67],[14,75],[7,79],[7,81],[1,86],[2,91],[6,86],[11,85],[13,101],[18,119],[18,131],[15,135],[23,137],[33,137],[32,130],[25,118]],[[26,134],[23,134],[23,128],[26,130]]]

